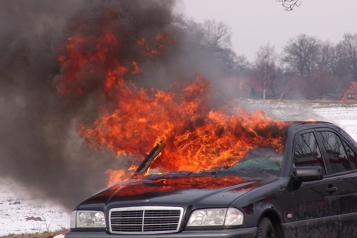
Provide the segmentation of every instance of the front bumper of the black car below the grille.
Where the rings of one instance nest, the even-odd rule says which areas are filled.
[[[255,238],[257,228],[226,229],[219,231],[183,231],[165,234],[110,234],[107,232],[69,232],[65,238]]]

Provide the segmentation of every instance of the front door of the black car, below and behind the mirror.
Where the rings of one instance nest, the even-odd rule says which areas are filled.
[[[329,175],[316,133],[304,131],[295,137],[294,166],[320,166],[325,177],[320,181],[303,182],[293,191],[296,238],[338,237],[339,207],[335,178]]]

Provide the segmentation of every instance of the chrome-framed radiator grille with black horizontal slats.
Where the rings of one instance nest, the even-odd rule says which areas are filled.
[[[182,220],[182,207],[123,207],[109,210],[111,233],[154,234],[177,232]]]

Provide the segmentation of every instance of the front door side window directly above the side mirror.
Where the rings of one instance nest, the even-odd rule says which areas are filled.
[[[294,163],[296,167],[320,166],[326,174],[321,151],[312,132],[297,137]]]

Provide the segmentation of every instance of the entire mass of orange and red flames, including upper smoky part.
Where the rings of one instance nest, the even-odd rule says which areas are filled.
[[[85,97],[100,88],[103,103],[97,119],[81,123],[79,134],[89,145],[105,147],[118,159],[131,161],[128,169],[108,169],[108,184],[130,178],[160,143],[160,151],[140,172],[209,171],[231,166],[250,148],[283,151],[286,123],[261,111],[213,106],[212,82],[199,73],[190,80],[177,79],[169,90],[138,87],[133,79],[143,74],[141,65],[147,68],[147,62],[162,60],[180,41],[165,32],[145,37],[132,34],[117,19],[108,10],[91,31],[86,22],[72,25],[73,35],[58,58],[61,75],[56,81],[57,92],[70,98]]]

